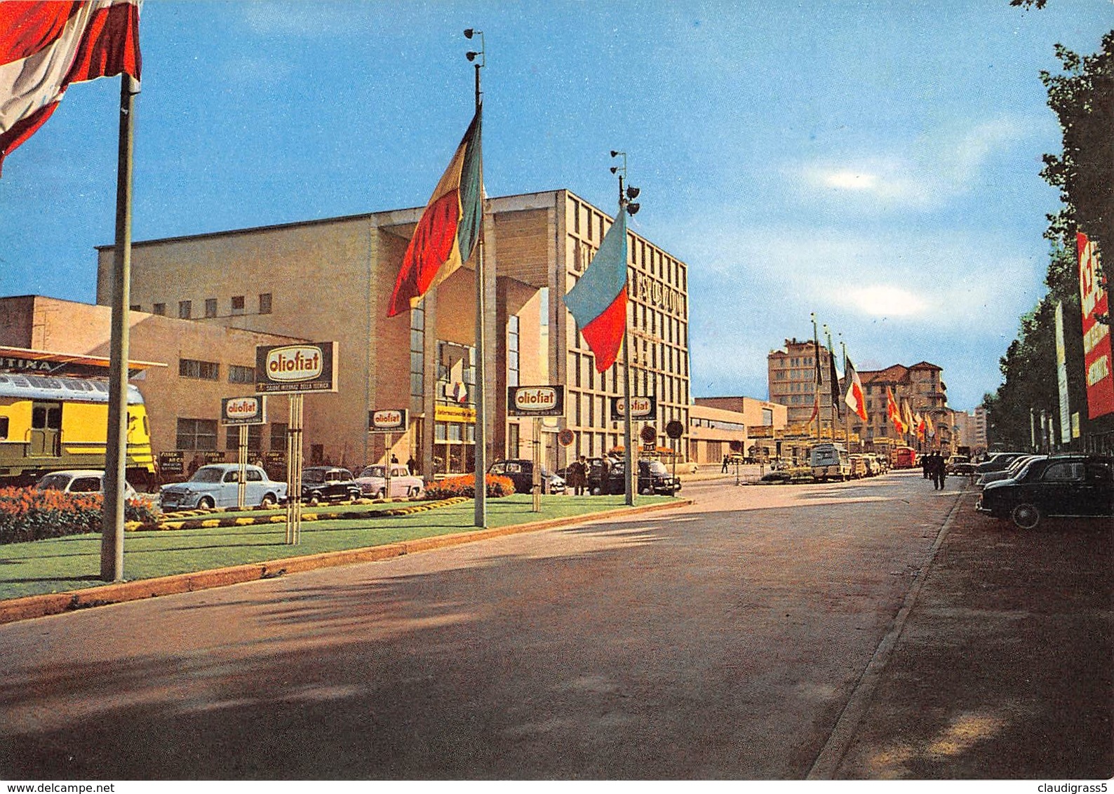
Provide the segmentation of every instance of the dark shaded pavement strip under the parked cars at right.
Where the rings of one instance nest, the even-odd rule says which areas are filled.
[[[866,712],[824,776],[1114,774],[1114,522],[1019,531],[976,513],[976,496],[962,494]]]

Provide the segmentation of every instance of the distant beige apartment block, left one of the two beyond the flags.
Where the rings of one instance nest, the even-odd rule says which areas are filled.
[[[818,367],[817,352],[818,347],[813,342],[788,339],[782,350],[771,351],[766,356],[770,402],[789,409],[789,427],[801,434],[812,432],[808,425],[810,421],[814,422],[818,389],[821,427],[830,432],[832,425],[831,354],[821,345]],[[840,424],[838,418],[836,424]]]

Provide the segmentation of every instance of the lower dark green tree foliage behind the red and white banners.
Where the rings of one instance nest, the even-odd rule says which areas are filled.
[[[1029,409],[1056,416],[1058,428],[1059,389],[1056,379],[1056,303],[1064,304],[1064,344],[1067,356],[1068,404],[1086,416],[1083,379],[1083,326],[1074,248],[1055,246],[1045,284],[1048,294],[1036,308],[1022,317],[1020,331],[999,365],[1004,378],[995,394],[983,404],[990,412],[991,442],[1009,449],[1028,449]]]

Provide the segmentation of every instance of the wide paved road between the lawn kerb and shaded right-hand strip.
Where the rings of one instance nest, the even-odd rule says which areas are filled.
[[[957,493],[686,493],[0,626],[0,777],[803,778]]]

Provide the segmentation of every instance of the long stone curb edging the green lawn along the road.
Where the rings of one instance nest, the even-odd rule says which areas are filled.
[[[41,618],[49,615],[61,615],[77,609],[101,607],[109,604],[123,604],[125,601],[136,601],[144,598],[156,598],[158,596],[170,596],[180,592],[195,592],[197,590],[207,590],[214,587],[226,587],[228,585],[241,585],[247,581],[274,579],[287,574],[300,574],[302,571],[316,570],[319,568],[335,568],[356,562],[379,562],[393,557],[401,557],[403,555],[431,551],[433,549],[441,549],[450,546],[462,546],[465,543],[489,540],[491,538],[500,538],[508,535],[536,532],[543,529],[566,527],[573,523],[586,523],[588,521],[596,521],[604,518],[622,518],[624,516],[635,516],[657,510],[672,510],[674,508],[688,507],[693,503],[692,499],[681,499],[665,504],[646,504],[644,507],[636,506],[618,508],[615,510],[602,510],[599,512],[583,513],[580,516],[568,516],[566,518],[554,518],[544,521],[517,523],[509,527],[453,532],[451,535],[439,535],[430,538],[417,538],[414,540],[403,540],[395,543],[371,546],[363,549],[325,551],[319,555],[287,557],[285,559],[270,560],[266,562],[248,562],[246,565],[232,566],[229,568],[217,568],[215,570],[196,571],[193,574],[176,574],[174,576],[157,577],[155,579],[115,582],[101,585],[99,587],[89,587],[81,590],[70,590],[68,592],[49,592],[40,596],[25,596],[23,598],[13,598],[7,601],[0,601],[0,624],[14,623],[17,620],[30,620],[32,618]]]

